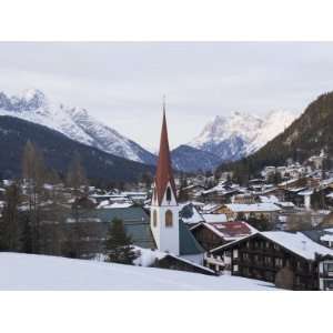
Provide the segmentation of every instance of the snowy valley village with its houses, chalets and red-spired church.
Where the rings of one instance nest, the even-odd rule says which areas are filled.
[[[333,172],[324,171],[325,159],[322,151],[302,164],[266,165],[246,186],[231,172],[174,176],[164,114],[154,179],[100,189],[80,181],[77,163],[68,183],[38,181],[29,165],[20,183],[2,180],[1,250],[104,260],[110,224],[120,220],[137,265],[333,290]]]

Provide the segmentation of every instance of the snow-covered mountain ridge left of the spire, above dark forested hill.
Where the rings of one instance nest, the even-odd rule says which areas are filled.
[[[11,115],[42,124],[68,138],[108,153],[137,162],[153,164],[155,157],[115,130],[93,119],[87,110],[69,108],[30,89],[21,95],[0,93],[0,115]]]

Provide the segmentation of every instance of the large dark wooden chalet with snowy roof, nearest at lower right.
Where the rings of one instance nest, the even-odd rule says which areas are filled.
[[[333,255],[333,250],[301,232],[269,231],[211,250],[205,263],[214,269],[219,260],[233,275],[275,282],[284,289],[319,290],[319,255]]]

